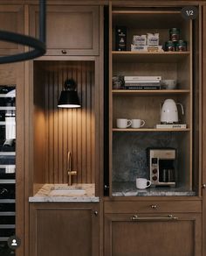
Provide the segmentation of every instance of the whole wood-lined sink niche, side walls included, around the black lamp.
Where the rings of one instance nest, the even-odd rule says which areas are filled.
[[[43,60],[42,60],[43,59]],[[32,158],[33,195],[44,184],[68,183],[68,152],[72,153],[72,183],[96,186],[98,153],[99,83],[96,59],[92,56],[33,61]],[[67,79],[77,83],[81,107],[58,108],[58,99]]]

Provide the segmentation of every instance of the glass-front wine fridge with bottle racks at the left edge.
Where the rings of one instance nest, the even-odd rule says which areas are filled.
[[[15,255],[16,86],[0,85],[0,255]]]

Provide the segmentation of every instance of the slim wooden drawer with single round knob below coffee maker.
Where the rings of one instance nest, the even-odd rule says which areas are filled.
[[[201,212],[200,201],[105,202],[105,213]]]

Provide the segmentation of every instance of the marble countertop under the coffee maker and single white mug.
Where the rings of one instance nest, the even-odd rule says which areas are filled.
[[[137,189],[135,182],[113,182],[113,196],[196,196],[185,188],[156,187]]]

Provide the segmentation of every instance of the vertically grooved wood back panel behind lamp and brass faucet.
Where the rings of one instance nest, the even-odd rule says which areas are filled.
[[[95,179],[93,61],[39,61],[45,72],[45,181],[66,183],[67,153],[72,153],[73,182]],[[58,97],[67,78],[78,84],[80,109],[59,109]],[[37,151],[36,151],[37,153]]]

